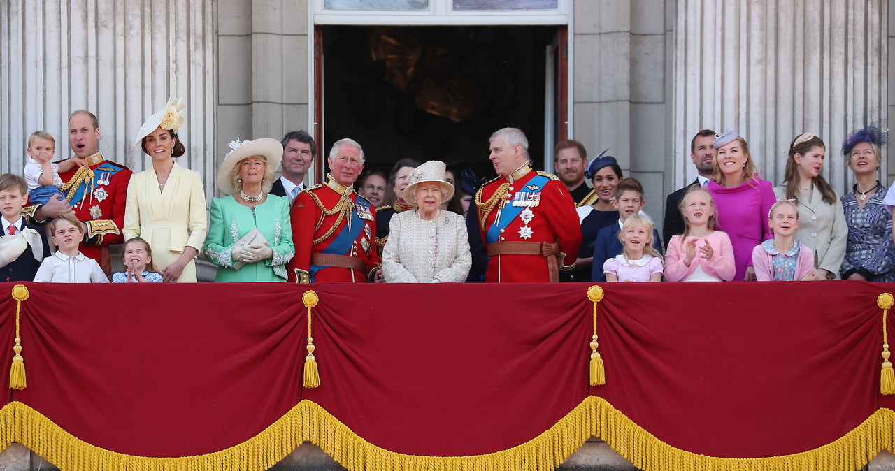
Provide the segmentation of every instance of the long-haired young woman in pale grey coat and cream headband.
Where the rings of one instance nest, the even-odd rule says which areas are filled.
[[[792,141],[783,184],[774,188],[777,198],[798,202],[798,229],[793,236],[814,250],[819,279],[836,280],[845,257],[848,225],[836,190],[823,178],[826,146],[814,133]]]

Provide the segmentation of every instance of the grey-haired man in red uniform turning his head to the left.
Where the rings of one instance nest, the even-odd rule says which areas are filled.
[[[581,248],[575,202],[555,176],[533,171],[521,130],[492,134],[490,151],[499,177],[475,195],[489,257],[485,281],[558,282],[558,270],[575,266]]]

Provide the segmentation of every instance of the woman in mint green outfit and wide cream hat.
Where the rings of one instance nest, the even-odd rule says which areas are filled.
[[[270,195],[283,158],[277,139],[230,143],[217,170],[211,225],[204,254],[217,265],[216,282],[285,282],[286,262],[295,255],[289,199]]]

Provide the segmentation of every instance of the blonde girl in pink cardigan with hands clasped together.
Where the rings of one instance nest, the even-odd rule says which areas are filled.
[[[684,233],[671,237],[665,256],[669,282],[729,282],[737,274],[733,246],[726,232],[718,231],[712,195],[695,186],[680,202]]]

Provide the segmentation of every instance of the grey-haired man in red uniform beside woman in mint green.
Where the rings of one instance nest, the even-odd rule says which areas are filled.
[[[327,181],[298,194],[292,206],[295,257],[290,282],[380,281],[376,211],[354,192],[363,170],[363,149],[341,139],[329,152]]]

